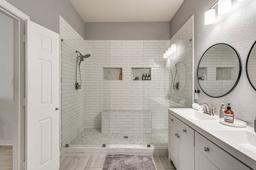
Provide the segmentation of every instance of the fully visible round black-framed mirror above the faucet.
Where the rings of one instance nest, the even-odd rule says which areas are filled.
[[[212,45],[202,55],[198,69],[198,83],[210,97],[229,94],[238,83],[242,71],[240,56],[234,47],[219,43]]]

